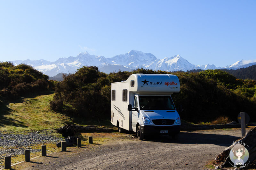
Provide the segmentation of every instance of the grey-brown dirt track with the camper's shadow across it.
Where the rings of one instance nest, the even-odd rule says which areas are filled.
[[[249,129],[247,129],[249,130]],[[33,159],[14,169],[209,169],[206,163],[241,137],[239,129],[181,131],[178,140],[160,136],[147,141],[116,139]],[[69,148],[67,149],[69,150]],[[70,149],[71,150],[71,149]],[[42,164],[39,164],[42,162]],[[188,165],[185,165],[188,164]],[[33,167],[32,167],[33,166]]]

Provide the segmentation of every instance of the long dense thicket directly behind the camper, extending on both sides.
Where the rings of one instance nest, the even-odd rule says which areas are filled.
[[[64,76],[56,86],[51,108],[86,118],[108,118],[111,83],[126,80],[133,73],[176,74],[180,79],[180,92],[173,94],[172,98],[176,105],[183,106],[184,111],[180,113],[183,120],[211,122],[222,115],[236,120],[241,111],[255,120],[255,81],[236,79],[221,70],[170,73],[137,69],[105,74],[97,67],[83,67],[75,74]]]

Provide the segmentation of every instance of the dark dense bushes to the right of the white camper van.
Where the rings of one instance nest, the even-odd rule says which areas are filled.
[[[225,115],[237,120],[238,113],[244,111],[255,120],[256,100],[234,90],[240,88],[240,79],[234,80],[224,71],[219,71],[216,75],[215,70],[206,71],[206,75],[215,75],[212,78],[205,76],[203,72],[175,74],[180,79],[180,93],[173,94],[172,98],[183,106],[184,111],[180,113],[182,119],[190,122],[211,122]]]

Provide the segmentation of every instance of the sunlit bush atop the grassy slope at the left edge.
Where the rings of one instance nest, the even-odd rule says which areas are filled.
[[[10,62],[0,62],[0,96],[7,99],[18,98],[29,92],[54,88],[48,83],[48,76],[26,64],[14,66]]]

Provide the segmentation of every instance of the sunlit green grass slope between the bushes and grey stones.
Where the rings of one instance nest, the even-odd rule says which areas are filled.
[[[41,93],[0,104],[0,131],[26,133],[31,131],[60,128],[65,124],[98,125],[113,128],[109,120],[87,121],[70,117],[50,109],[54,93]]]

